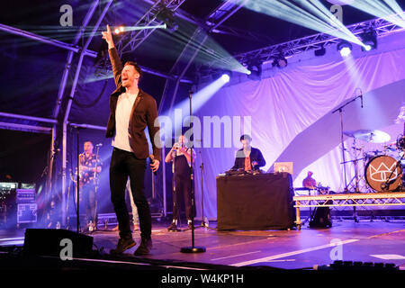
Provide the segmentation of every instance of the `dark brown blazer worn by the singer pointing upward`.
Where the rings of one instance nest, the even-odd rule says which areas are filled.
[[[107,123],[107,138],[114,136],[115,131],[115,109],[117,108],[118,96],[125,92],[125,88],[121,84],[122,63],[115,48],[109,49],[110,59],[112,63],[112,73],[117,89],[110,95],[110,118]],[[149,139],[152,142],[153,155],[155,159],[160,161],[160,137],[159,125],[155,127],[157,119],[157,104],[156,100],[149,94],[139,89],[139,94],[135,103],[132,106],[130,113],[130,148],[132,148],[135,157],[145,159],[149,156],[148,140],[145,135],[145,128],[148,126]],[[157,139],[155,139],[155,135]],[[155,143],[156,142],[156,143]]]

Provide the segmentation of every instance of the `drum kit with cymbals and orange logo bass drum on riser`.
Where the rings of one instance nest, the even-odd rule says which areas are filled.
[[[356,192],[398,192],[405,190],[405,136],[400,135],[395,142],[389,142],[391,136],[381,130],[347,130],[343,132],[354,139],[354,160],[343,162],[354,163],[355,176],[352,178],[349,187],[352,185]],[[382,149],[365,150],[360,148],[356,140],[368,143],[380,144]],[[364,163],[364,174],[358,173],[359,162]],[[365,186],[360,183],[365,181]],[[354,182],[354,184],[352,184]]]

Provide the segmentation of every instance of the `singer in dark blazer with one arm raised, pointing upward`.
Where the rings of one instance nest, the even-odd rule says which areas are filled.
[[[149,139],[153,148],[153,172],[160,164],[160,143],[157,141],[157,103],[149,94],[139,88],[142,70],[135,62],[123,66],[114,46],[110,26],[103,31],[103,39],[108,44],[112,63],[112,73],[117,88],[110,95],[110,117],[106,137],[112,137],[112,157],[110,163],[111,201],[117,215],[119,235],[117,247],[112,254],[136,245],[130,230],[130,215],[125,203],[125,184],[130,177],[130,190],[139,213],[140,244],[134,255],[148,255],[152,248],[152,217],[145,196],[145,170],[149,156],[148,140],[145,129],[148,127]],[[156,122],[156,123],[155,123]],[[156,125],[155,125],[156,124]],[[157,137],[155,137],[157,136]]]

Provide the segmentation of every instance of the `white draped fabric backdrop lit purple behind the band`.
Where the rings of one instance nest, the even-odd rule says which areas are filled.
[[[237,84],[231,81],[194,115],[201,121],[203,116],[250,116],[252,146],[260,148],[266,158],[265,171],[275,161],[293,161],[294,187],[301,187],[302,179],[311,170],[317,182],[341,192],[345,184],[340,164],[340,121],[339,113],[331,112],[353,98],[359,88],[364,94],[364,108],[360,99],[347,105],[343,112],[344,129],[383,130],[391,135],[392,141],[402,133],[403,122],[396,124],[395,120],[405,104],[404,36],[404,32],[399,32],[379,39],[378,49],[368,53],[355,47],[352,57],[347,59],[341,58],[336,47],[329,47],[321,58],[315,58],[313,51],[289,58],[284,69],[265,66],[260,81],[240,80]],[[315,129],[311,130],[313,124]],[[222,130],[221,137],[223,134]],[[353,139],[346,136],[345,139],[350,150]],[[202,147],[208,144],[203,143]],[[381,144],[357,144],[366,150],[382,149]],[[203,183],[204,216],[216,218],[216,176],[233,166],[238,148],[196,148],[198,216],[202,215]],[[200,155],[205,170],[203,182]],[[347,182],[353,175],[349,164]]]

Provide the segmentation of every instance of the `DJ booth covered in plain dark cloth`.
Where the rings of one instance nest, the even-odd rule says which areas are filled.
[[[219,230],[290,229],[295,226],[290,174],[217,176]]]

